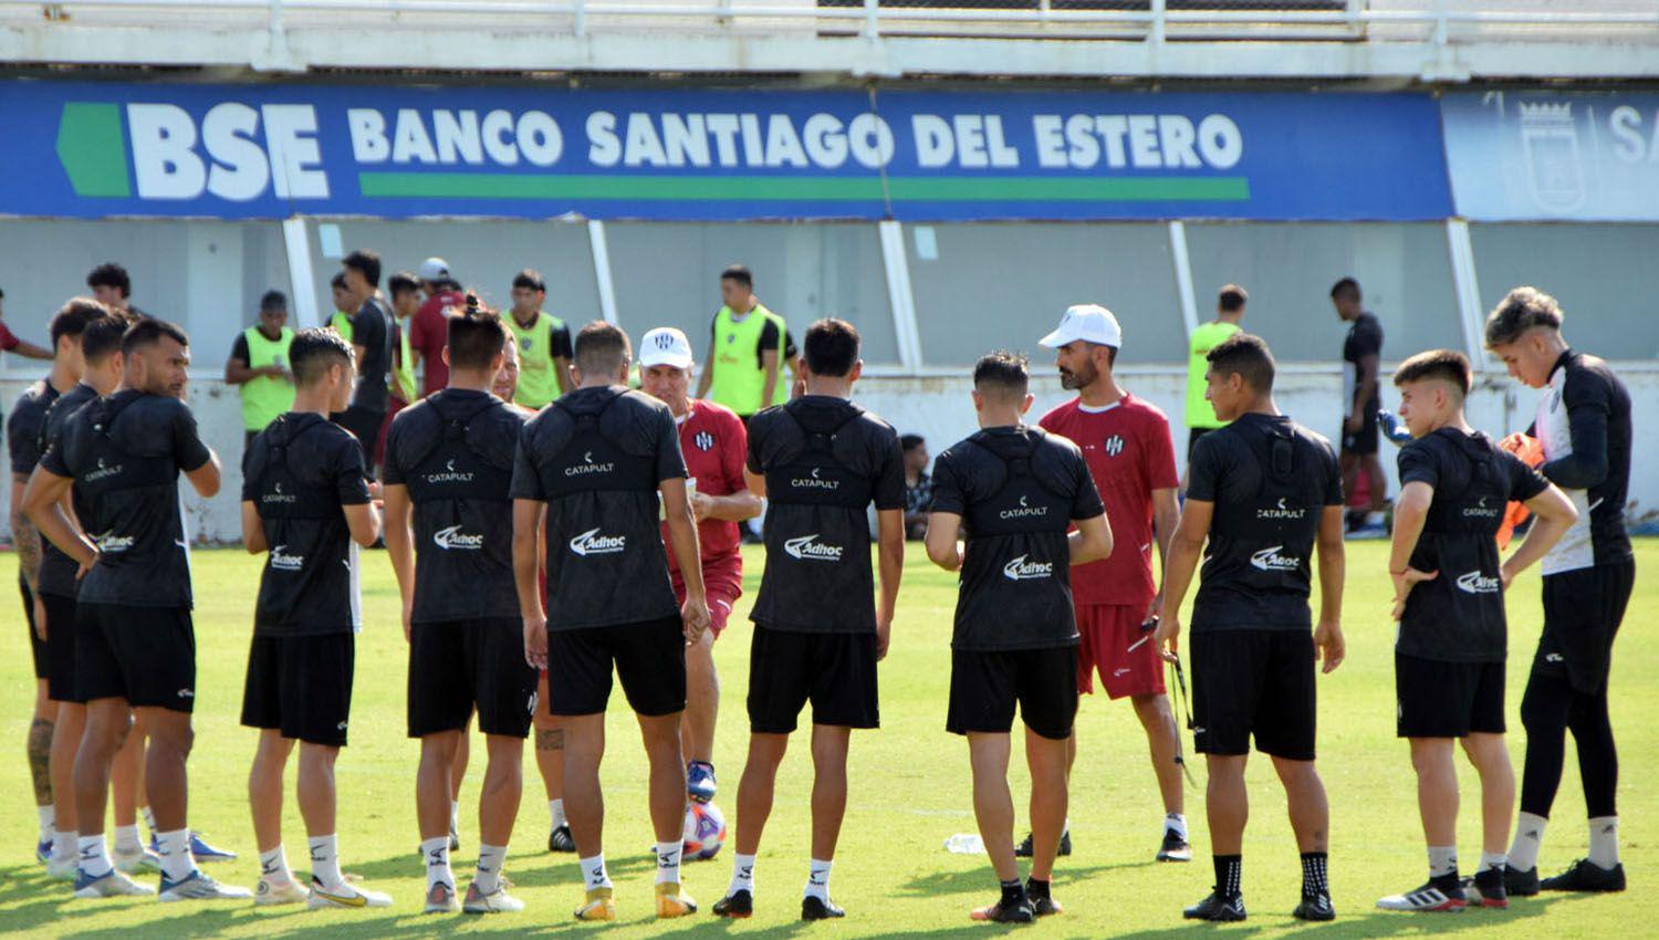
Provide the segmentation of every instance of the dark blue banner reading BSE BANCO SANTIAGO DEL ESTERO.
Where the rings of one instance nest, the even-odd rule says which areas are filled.
[[[1418,94],[0,83],[0,214],[1440,219]]]

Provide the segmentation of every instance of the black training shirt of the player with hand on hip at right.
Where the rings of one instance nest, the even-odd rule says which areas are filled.
[[[1400,487],[1435,489],[1410,565],[1440,572],[1405,598],[1395,648],[1450,663],[1501,663],[1508,653],[1498,527],[1510,501],[1550,486],[1485,434],[1440,428],[1400,448]]]

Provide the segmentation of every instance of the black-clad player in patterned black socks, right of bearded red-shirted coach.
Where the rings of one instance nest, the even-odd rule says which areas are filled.
[[[1209,766],[1204,812],[1216,885],[1183,917],[1244,920],[1244,763],[1254,734],[1256,749],[1272,758],[1284,784],[1302,854],[1302,900],[1294,915],[1331,920],[1331,811],[1314,769],[1314,663],[1322,658],[1329,673],[1344,657],[1342,471],[1329,441],[1279,414],[1267,343],[1234,333],[1204,358],[1204,398],[1229,424],[1193,446],[1155,633],[1173,661],[1181,600],[1203,550],[1193,602],[1193,743]],[[1316,545],[1319,625],[1309,635]]]

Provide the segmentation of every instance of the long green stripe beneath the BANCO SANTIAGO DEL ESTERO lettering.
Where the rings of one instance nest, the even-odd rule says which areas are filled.
[[[664,199],[881,202],[878,177],[841,176],[524,176],[504,172],[358,172],[377,199]],[[1048,176],[889,177],[899,202],[1238,202],[1243,176],[1065,179]]]

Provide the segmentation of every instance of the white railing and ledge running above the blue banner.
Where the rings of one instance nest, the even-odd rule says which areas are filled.
[[[921,38],[947,41],[914,45]],[[1520,46],[1546,50],[1545,61],[1511,55]],[[1355,55],[1355,48],[1364,51]],[[1571,51],[1551,55],[1550,48]],[[0,61],[242,65],[255,71],[831,70],[1458,81],[1472,75],[1654,76],[1656,48],[1656,0],[0,0]]]

